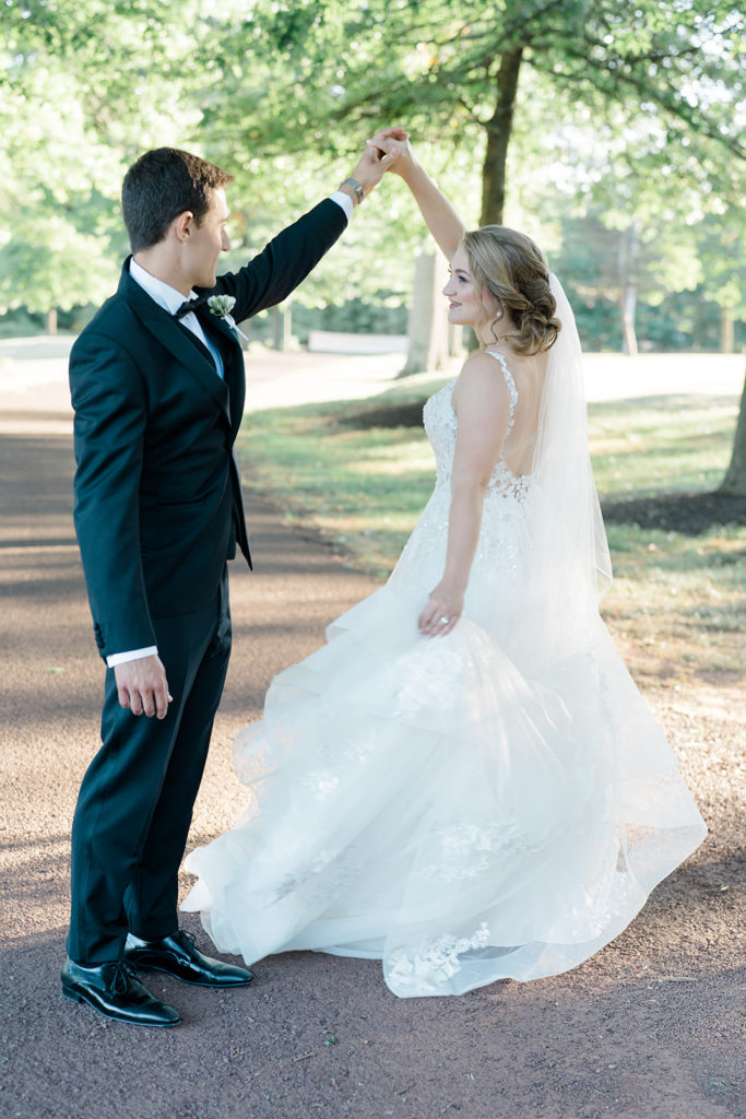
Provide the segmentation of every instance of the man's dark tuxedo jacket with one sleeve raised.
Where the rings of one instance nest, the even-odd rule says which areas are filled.
[[[234,295],[237,322],[280,303],[347,225],[325,199],[208,293]],[[102,657],[157,645],[153,618],[189,613],[217,593],[236,542],[251,565],[234,442],[245,377],[234,331],[198,312],[207,348],[132,280],[70,354],[75,528]]]

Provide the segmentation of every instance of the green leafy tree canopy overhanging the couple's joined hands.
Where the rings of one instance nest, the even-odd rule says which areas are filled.
[[[734,113],[742,36],[736,6],[703,0],[499,0],[468,11],[442,0],[259,0],[219,39],[225,100],[206,121],[218,140],[239,135],[245,150],[267,153],[315,141],[347,152],[360,124],[398,117],[448,149],[472,149],[494,110],[501,58],[520,49],[541,78],[531,90],[544,120],[535,150],[563,132],[572,147],[577,121],[604,140],[626,131],[617,154],[657,154],[695,182],[727,182],[718,151],[743,156]],[[259,55],[273,59],[272,79]],[[240,106],[237,128],[226,103]],[[706,161],[701,139],[716,141]]]

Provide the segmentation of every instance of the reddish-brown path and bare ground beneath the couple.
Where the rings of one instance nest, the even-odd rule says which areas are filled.
[[[375,961],[286,953],[237,991],[151,980],[183,1015],[173,1031],[63,1000],[68,833],[103,678],[68,429],[64,394],[0,396],[1,1119],[746,1116],[743,681],[649,695],[710,834],[623,935],[568,975],[399,1000]],[[274,673],[375,586],[246,499],[257,571],[234,565],[234,658],[192,844],[243,806],[232,740]],[[185,925],[207,947],[195,920]]]

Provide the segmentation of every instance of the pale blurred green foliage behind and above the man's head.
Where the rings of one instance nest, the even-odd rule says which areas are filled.
[[[187,96],[193,36],[207,34],[199,10],[195,0],[4,0],[0,312],[111,292],[126,247],[124,170],[199,120]]]

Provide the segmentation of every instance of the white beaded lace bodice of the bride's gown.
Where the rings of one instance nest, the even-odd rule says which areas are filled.
[[[518,389],[503,355],[493,350],[487,350],[485,352],[499,364],[510,393],[508,427],[506,429],[506,434],[500,446],[500,458],[487,487],[487,496],[512,497],[518,501],[522,501],[528,491],[530,476],[514,474],[502,458],[502,449],[506,445],[506,440],[512,431],[516,420]],[[456,433],[459,430],[459,421],[453,411],[453,391],[455,385],[456,380],[454,379],[445,385],[440,393],[431,396],[423,412],[425,432],[435,454],[435,485],[438,487],[450,483],[453,470],[453,454],[456,448]]]

